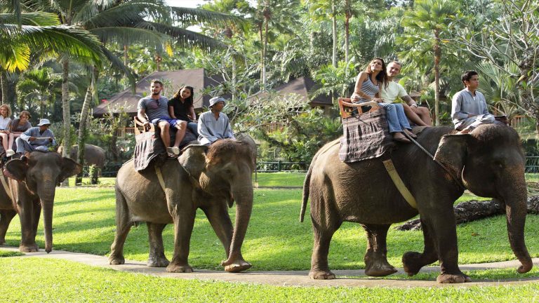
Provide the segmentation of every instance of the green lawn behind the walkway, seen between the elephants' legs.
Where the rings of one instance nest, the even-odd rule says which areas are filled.
[[[243,246],[246,260],[255,270],[310,269],[312,228],[309,213],[306,222],[298,220],[300,189],[257,189],[253,215]],[[463,196],[467,200],[472,196]],[[58,188],[56,191],[53,235],[55,250],[107,255],[114,239],[114,190],[112,188]],[[234,217],[234,208],[230,214]],[[528,215],[526,243],[533,257],[539,256],[539,216]],[[514,260],[507,241],[505,217],[461,224],[458,227],[460,263]],[[6,241],[18,245],[19,220],[13,220]],[[39,226],[38,244],[44,247]],[[408,250],[422,250],[421,231],[395,231],[388,234],[387,257],[401,267],[401,256]],[[164,231],[166,255],[173,251],[173,229]],[[359,224],[345,223],[335,233],[329,254],[332,269],[361,269],[364,267],[366,240]],[[144,261],[148,255],[145,224],[133,227],[129,234],[125,256]],[[219,262],[225,252],[213,233],[208,220],[199,210],[192,234],[189,262],[195,269],[221,269]]]

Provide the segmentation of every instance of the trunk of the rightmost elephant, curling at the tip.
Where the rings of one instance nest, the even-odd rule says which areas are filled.
[[[524,225],[526,223],[526,182],[524,181],[524,174],[522,183],[514,189],[510,196],[504,197],[505,211],[507,215],[507,234],[509,234],[509,242],[514,255],[521,262],[521,266],[517,271],[524,274],[531,270],[533,262],[531,261],[530,254],[524,243]]]

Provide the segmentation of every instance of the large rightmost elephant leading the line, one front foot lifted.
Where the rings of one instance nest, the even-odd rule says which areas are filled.
[[[404,253],[404,271],[413,276],[439,260],[439,283],[471,281],[458,267],[453,213],[453,203],[465,188],[503,203],[510,245],[521,262],[518,272],[531,270],[524,242],[525,158],[517,132],[507,126],[485,125],[457,135],[448,127],[430,127],[418,133],[417,141],[430,154],[436,152],[435,161],[415,144],[400,144],[391,154],[394,167],[415,197],[415,208],[401,196],[380,159],[344,163],[339,160],[338,140],[317,152],[305,177],[300,215],[302,221],[310,198],[311,278],[335,278],[328,267],[328,250],[333,233],[344,221],[357,222],[366,231],[366,275],[393,274],[397,270],[387,262],[387,230],[392,223],[419,214],[425,247],[422,253]]]

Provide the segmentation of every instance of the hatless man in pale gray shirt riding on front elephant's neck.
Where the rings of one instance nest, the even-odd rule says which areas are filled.
[[[453,95],[451,102],[451,118],[458,133],[470,133],[481,124],[504,124],[495,121],[495,117],[488,112],[485,96],[477,90],[479,87],[479,75],[476,71],[467,71],[463,74],[462,81],[465,89]]]

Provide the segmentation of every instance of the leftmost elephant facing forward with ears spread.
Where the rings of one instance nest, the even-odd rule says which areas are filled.
[[[55,152],[31,152],[12,159],[4,166],[11,197],[0,189],[0,243],[5,243],[9,223],[18,213],[20,218],[22,253],[38,251],[36,232],[43,208],[45,251],[53,249],[53,203],[56,184],[80,173],[82,166]],[[2,177],[2,176],[0,176]]]

